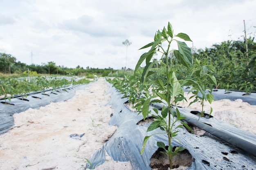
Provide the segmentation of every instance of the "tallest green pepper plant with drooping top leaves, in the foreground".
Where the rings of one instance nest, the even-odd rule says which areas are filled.
[[[180,38],[185,41],[191,41],[189,36],[186,35],[185,33],[178,33],[177,35],[174,35],[173,27],[170,24],[170,22],[168,22],[167,29],[164,27],[162,31],[158,30],[155,33],[154,41],[150,42],[149,44],[141,48],[141,49],[146,49],[148,47],[151,47],[148,52],[141,55],[135,67],[135,73],[136,73],[140,65],[142,64],[142,62],[146,61],[146,66],[143,68],[143,73],[141,75],[142,84],[145,82],[146,77],[148,77],[149,75],[152,75],[154,73],[159,73],[163,75],[162,79],[159,79],[159,78],[156,79],[156,82],[154,85],[156,86],[157,89],[155,91],[155,94],[153,95],[156,95],[157,97],[159,97],[160,100],[157,102],[163,103],[165,106],[163,107],[161,114],[153,115],[155,117],[154,122],[152,122],[148,126],[147,132],[160,128],[161,130],[164,131],[164,133],[167,134],[168,149],[166,149],[165,144],[162,141],[158,141],[157,146],[160,148],[164,148],[164,150],[166,150],[166,154],[168,155],[168,158],[169,158],[170,168],[172,168],[173,156],[177,155],[179,151],[184,150],[182,146],[178,146],[175,148],[175,150],[173,150],[171,141],[175,136],[177,136],[177,132],[179,128],[182,128],[183,126],[186,126],[187,128],[189,128],[189,126],[182,121],[180,122],[181,124],[178,125],[177,127],[174,128],[173,126],[176,121],[184,119],[184,117],[180,115],[179,110],[177,108],[176,108],[176,113],[175,113],[175,110],[172,109],[173,103],[182,101],[184,97],[183,97],[182,86],[180,82],[177,80],[175,72],[172,69],[173,66],[171,62],[168,61],[168,55],[170,55],[170,53],[173,51],[175,57],[177,58],[177,60],[179,60],[179,62],[182,65],[186,66],[187,68],[190,68],[192,65],[191,49],[186,45],[185,42],[181,42],[177,40],[177,38]],[[172,42],[177,43],[178,50],[171,50]],[[162,57],[160,60],[153,60],[151,62],[155,52],[161,53]],[[162,59],[164,59],[165,62],[163,62]],[[161,65],[164,65],[166,68],[164,72],[151,71],[150,69],[155,63],[160,63]],[[148,102],[144,102],[144,104],[142,104],[142,109],[144,107],[148,108]],[[157,109],[154,109],[154,110],[156,111],[156,113],[158,113]],[[176,119],[175,119],[175,115],[176,115]],[[146,143],[151,136],[152,135],[146,136],[144,138],[141,155],[144,152]]]

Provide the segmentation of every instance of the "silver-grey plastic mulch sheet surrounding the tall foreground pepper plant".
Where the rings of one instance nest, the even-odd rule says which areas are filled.
[[[166,156],[168,135],[160,128],[148,131],[148,128],[156,120],[154,117],[156,114],[155,109],[160,113],[163,110],[163,105],[155,103],[155,105],[149,106],[149,110],[152,113],[148,115],[148,123],[147,117],[144,121],[143,115],[130,110],[130,107],[127,106],[128,97],[125,97],[124,94],[117,92],[113,87],[107,93],[112,94],[108,104],[114,109],[110,115],[111,120],[109,124],[115,125],[118,128],[112,137],[103,144],[102,148],[94,152],[88,161],[90,163],[87,163],[84,169],[95,168],[99,164],[104,163],[107,153],[114,161],[130,161],[132,170],[152,170],[157,168],[159,170],[167,170],[169,166],[169,159]],[[175,108],[173,106],[173,110]],[[195,134],[186,128],[178,128],[175,137],[173,136],[171,145],[173,146],[173,151],[179,146],[185,149],[173,157],[173,168],[184,169],[182,166],[186,166],[186,170],[256,168],[255,134],[214,117],[204,118],[193,115],[190,113],[190,109],[179,108],[179,111],[187,117],[183,121],[190,122],[189,126]],[[195,125],[202,124],[201,128],[207,132],[199,131],[191,123]],[[176,121],[173,124],[173,128],[181,125],[180,121]],[[148,139],[144,152],[141,154],[140,150],[143,147],[145,136],[151,137]],[[157,141],[162,141],[163,143]],[[165,150],[160,146],[164,147]],[[241,146],[243,148],[240,148]]]

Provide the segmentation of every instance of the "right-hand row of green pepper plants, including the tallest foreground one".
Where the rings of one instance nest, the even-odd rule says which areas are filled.
[[[163,134],[166,134],[168,145],[166,146],[164,141],[157,141],[157,146],[168,155],[170,168],[173,168],[173,157],[184,150],[181,144],[176,145],[174,148],[172,141],[177,139],[176,136],[183,127],[193,132],[186,124],[186,121],[183,121],[186,117],[180,114],[179,108],[172,109],[177,102],[187,100],[184,97],[182,86],[191,86],[189,93],[193,95],[190,99],[192,97],[195,99],[190,104],[200,102],[202,108],[198,115],[201,117],[211,116],[212,108],[210,113],[206,115],[204,105],[206,102],[211,104],[213,101],[213,88],[217,87],[217,80],[213,74],[214,67],[208,64],[207,60],[200,61],[197,58],[193,58],[191,49],[180,39],[191,41],[185,33],[175,35],[172,25],[168,23],[167,28],[164,27],[162,31],[158,30],[155,33],[153,42],[140,49],[150,48],[148,52],[145,52],[139,58],[134,75],[125,77],[122,80],[109,79],[118,91],[124,94],[124,97],[129,98],[129,102],[132,103],[133,107],[139,113],[142,113],[144,120],[148,119],[149,115],[153,116],[154,121],[148,126],[146,132],[160,129]],[[176,44],[178,49],[171,49],[173,44]],[[160,60],[153,60],[155,53],[161,55]],[[182,69],[177,69],[174,66],[173,57],[175,57],[176,62],[182,65]],[[141,68],[140,66],[143,62],[146,62],[146,66]],[[160,64],[162,67],[159,69],[153,68],[156,64]],[[180,71],[184,69],[189,73],[189,76],[179,76],[181,74]],[[150,109],[151,103],[162,104],[161,110],[159,111],[157,108]],[[177,122],[179,122],[179,125],[175,126]],[[144,152],[147,141],[157,134],[159,132],[151,133],[151,135],[144,137],[141,155]]]

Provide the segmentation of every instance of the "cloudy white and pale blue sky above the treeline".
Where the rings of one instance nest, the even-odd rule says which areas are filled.
[[[0,53],[26,64],[134,68],[146,52],[138,49],[168,22],[204,49],[241,38],[243,20],[254,35],[255,8],[256,0],[0,0]]]

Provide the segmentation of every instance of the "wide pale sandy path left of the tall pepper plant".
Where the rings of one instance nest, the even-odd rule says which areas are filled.
[[[76,91],[72,99],[14,114],[15,127],[0,135],[0,170],[77,170],[85,166],[84,158],[89,159],[117,129],[108,125],[113,110],[105,106],[111,96],[105,95],[107,89],[100,78]],[[83,133],[80,140],[70,138]],[[107,160],[106,164],[111,162],[109,157]]]

